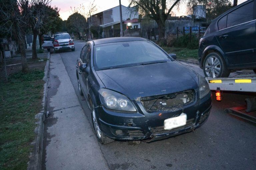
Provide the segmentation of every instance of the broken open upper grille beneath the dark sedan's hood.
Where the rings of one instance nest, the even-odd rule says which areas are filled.
[[[195,91],[186,90],[166,95],[141,98],[142,105],[147,112],[168,111],[175,107],[187,105],[195,100]]]

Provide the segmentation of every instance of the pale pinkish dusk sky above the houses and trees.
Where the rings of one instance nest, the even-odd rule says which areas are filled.
[[[238,4],[244,2],[245,0],[238,0]],[[80,4],[83,4],[84,6],[89,5],[92,3],[93,0],[52,0],[51,1],[51,6],[56,6],[60,9],[60,17],[63,20],[66,20],[68,16],[72,14],[72,11],[70,7],[77,7]],[[110,8],[113,8],[115,6],[119,5],[119,0],[95,0],[94,2],[97,5],[97,12],[101,12]],[[129,5],[129,0],[121,0],[122,5],[128,6]],[[183,4],[180,6],[180,9],[174,9],[173,10],[174,14],[176,16],[181,16],[181,15],[187,15],[187,10],[186,10],[186,5]]]

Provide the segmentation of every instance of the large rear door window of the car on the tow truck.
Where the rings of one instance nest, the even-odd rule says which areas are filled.
[[[253,2],[230,12],[227,19],[227,27],[232,27],[253,20]]]

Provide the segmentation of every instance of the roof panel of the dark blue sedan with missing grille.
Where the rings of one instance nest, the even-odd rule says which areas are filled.
[[[124,42],[124,41],[145,41],[147,39],[140,37],[114,37],[114,38],[106,38],[106,39],[98,39],[93,40],[94,45],[111,43],[111,42]]]

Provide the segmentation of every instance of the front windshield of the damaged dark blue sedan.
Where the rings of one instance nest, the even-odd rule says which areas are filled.
[[[113,42],[94,46],[96,70],[155,64],[171,61],[149,41]]]

